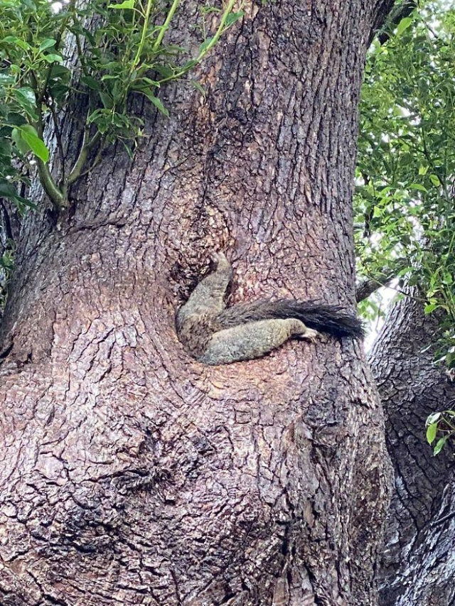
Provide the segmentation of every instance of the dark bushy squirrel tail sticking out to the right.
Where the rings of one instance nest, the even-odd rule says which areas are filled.
[[[239,303],[220,312],[216,318],[218,330],[255,320],[297,318],[309,328],[329,332],[336,337],[364,337],[361,321],[338,305],[317,301],[255,301]]]

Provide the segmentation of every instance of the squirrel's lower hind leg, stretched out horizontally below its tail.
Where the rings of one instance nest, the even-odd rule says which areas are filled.
[[[254,359],[279,347],[291,337],[314,341],[318,333],[295,318],[258,320],[214,332],[202,355],[203,364],[230,364]]]

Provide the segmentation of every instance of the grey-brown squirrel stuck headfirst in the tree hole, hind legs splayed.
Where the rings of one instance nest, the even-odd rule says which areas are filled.
[[[262,357],[291,338],[316,340],[319,331],[363,337],[363,325],[338,305],[317,301],[256,301],[225,307],[232,268],[213,254],[216,269],[194,288],[176,313],[179,340],[203,364],[230,364]]]

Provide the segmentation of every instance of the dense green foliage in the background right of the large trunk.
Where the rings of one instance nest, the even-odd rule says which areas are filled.
[[[455,366],[455,11],[438,2],[373,43],[361,100],[355,238],[360,274],[392,274],[438,313]],[[435,31],[437,29],[437,33]],[[370,313],[374,308],[370,307]]]

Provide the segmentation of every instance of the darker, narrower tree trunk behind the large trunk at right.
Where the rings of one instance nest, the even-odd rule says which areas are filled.
[[[385,407],[395,471],[382,563],[381,604],[455,604],[453,448],[437,457],[425,420],[453,408],[455,386],[433,364],[437,319],[406,298],[392,308],[373,350],[373,375]]]

